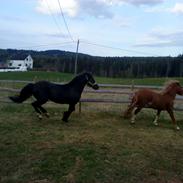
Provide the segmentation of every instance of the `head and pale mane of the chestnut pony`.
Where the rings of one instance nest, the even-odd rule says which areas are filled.
[[[165,91],[174,91],[178,95],[183,95],[183,88],[177,80],[170,80],[165,85]]]

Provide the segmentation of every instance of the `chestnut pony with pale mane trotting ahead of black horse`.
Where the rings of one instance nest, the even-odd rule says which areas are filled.
[[[161,111],[167,111],[170,115],[176,130],[179,126],[174,117],[173,103],[176,94],[183,95],[183,88],[179,81],[170,80],[166,83],[165,88],[161,92],[155,92],[150,89],[141,89],[134,93],[128,109],[124,113],[124,117],[131,116],[131,123],[135,123],[135,117],[142,108],[152,108],[157,110],[154,125],[158,125],[158,119]],[[135,109],[135,110],[134,110]]]

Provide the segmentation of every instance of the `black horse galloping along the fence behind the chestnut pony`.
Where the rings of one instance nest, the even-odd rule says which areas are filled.
[[[20,91],[18,96],[9,98],[15,103],[22,103],[33,95],[36,101],[32,103],[32,106],[40,119],[42,119],[42,114],[49,117],[49,113],[42,107],[48,100],[60,104],[69,104],[69,109],[64,112],[62,118],[63,121],[67,122],[70,114],[75,110],[75,105],[79,102],[86,84],[95,90],[99,88],[93,76],[85,72],[63,85],[48,81],[39,81],[35,84],[29,83]]]

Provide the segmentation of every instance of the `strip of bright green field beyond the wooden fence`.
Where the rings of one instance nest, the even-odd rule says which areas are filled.
[[[49,80],[58,82],[68,82],[74,77],[74,74],[59,72],[8,72],[0,73],[0,80]],[[163,85],[168,79],[177,79],[183,84],[183,78],[105,78],[95,77],[98,83],[110,84],[138,84],[138,85]]]

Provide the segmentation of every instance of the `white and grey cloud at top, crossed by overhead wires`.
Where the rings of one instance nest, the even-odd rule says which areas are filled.
[[[70,17],[82,14],[97,18],[111,18],[113,14],[109,10],[109,4],[104,0],[59,0],[62,10]],[[58,0],[38,0],[36,10],[43,14],[59,14]]]

